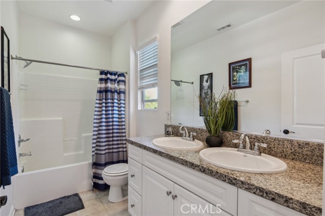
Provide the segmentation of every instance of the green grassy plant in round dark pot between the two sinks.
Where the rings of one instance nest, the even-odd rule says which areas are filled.
[[[235,124],[234,99],[235,91],[222,89],[218,97],[212,93],[211,99],[199,96],[202,108],[204,125],[209,133],[206,143],[210,147],[222,146],[222,138],[219,136],[221,128],[233,128]]]

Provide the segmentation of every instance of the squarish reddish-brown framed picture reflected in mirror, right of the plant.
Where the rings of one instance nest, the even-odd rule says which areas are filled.
[[[251,63],[251,58],[229,63],[229,89],[252,87]]]

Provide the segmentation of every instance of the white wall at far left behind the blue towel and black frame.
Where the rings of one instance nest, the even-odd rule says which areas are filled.
[[[16,2],[14,1],[0,1],[1,5],[1,26],[4,27],[6,33],[8,34],[10,40],[10,53],[18,52],[18,19],[19,13]],[[11,86],[11,106],[13,113],[14,121],[14,132],[15,140],[18,140],[19,133],[19,97],[17,92],[17,82],[18,80],[18,66],[15,61],[10,61],[10,86]],[[17,143],[16,143],[17,146]],[[14,178],[14,177],[13,177]],[[8,196],[8,202],[5,206],[1,207],[0,215],[11,215],[14,210],[12,191],[15,187],[14,181],[12,179],[12,185],[6,186],[6,189],[1,187],[0,194],[1,196]]]

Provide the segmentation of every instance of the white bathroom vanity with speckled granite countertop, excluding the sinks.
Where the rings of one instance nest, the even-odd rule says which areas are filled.
[[[234,171],[204,162],[200,150],[152,145],[162,136],[127,139],[132,215],[321,215],[321,166],[281,159],[282,173]]]

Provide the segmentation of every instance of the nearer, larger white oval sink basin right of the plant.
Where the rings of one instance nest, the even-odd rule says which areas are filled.
[[[251,173],[280,173],[286,164],[270,155],[248,155],[233,148],[209,148],[200,152],[200,157],[211,164],[227,169]]]

